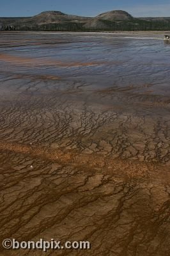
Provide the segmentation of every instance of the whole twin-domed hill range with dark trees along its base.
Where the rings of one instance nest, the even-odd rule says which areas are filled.
[[[33,17],[0,18],[0,29],[10,28],[46,31],[164,31],[170,30],[170,17],[134,18],[121,10],[101,13],[96,17],[47,11]]]

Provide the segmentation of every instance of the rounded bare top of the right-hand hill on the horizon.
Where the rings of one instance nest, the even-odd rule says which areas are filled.
[[[104,12],[97,15],[98,19],[104,20],[130,20],[132,19],[132,15],[128,12],[121,11],[121,10],[113,10],[111,12]]]

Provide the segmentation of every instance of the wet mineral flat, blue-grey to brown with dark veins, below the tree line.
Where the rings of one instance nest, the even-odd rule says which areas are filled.
[[[169,255],[170,44],[158,33],[0,33],[0,240]]]

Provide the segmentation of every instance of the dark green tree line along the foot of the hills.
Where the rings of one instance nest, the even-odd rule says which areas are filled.
[[[36,31],[168,31],[170,30],[169,20],[142,20],[132,19],[129,21],[98,20],[99,24],[91,26],[85,22],[63,22],[43,24],[41,26],[30,24],[17,24],[16,28],[4,30],[36,30]],[[15,29],[14,29],[15,28]]]

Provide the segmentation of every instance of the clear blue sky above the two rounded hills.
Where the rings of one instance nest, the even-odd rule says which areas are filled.
[[[170,17],[169,0],[0,0],[0,17],[33,16],[47,10],[95,16],[125,10],[134,17]]]

